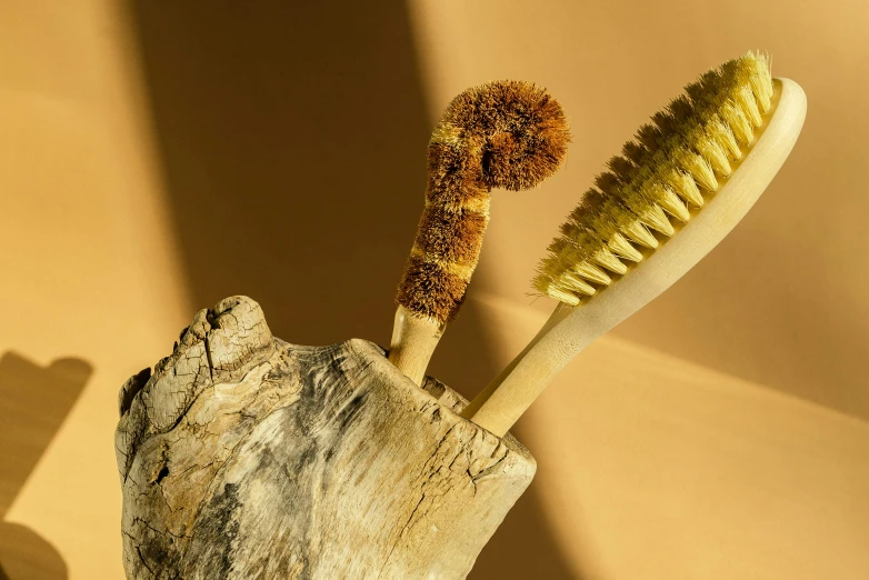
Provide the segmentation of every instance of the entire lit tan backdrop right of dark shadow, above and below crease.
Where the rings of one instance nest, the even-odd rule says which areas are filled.
[[[473,296],[501,364],[551,309],[525,296],[542,249],[641,122],[748,49],[800,82],[802,136],[755,209],[582,353],[520,433],[577,578],[869,577],[869,4],[411,6],[432,113],[469,84],[522,78],[576,136],[539,190],[492,198]]]

